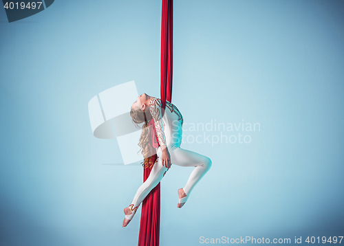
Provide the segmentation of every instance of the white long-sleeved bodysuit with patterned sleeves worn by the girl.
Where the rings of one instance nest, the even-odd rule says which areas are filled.
[[[153,98],[149,102],[149,111],[155,123],[156,133],[160,146],[166,145],[171,155],[171,164],[178,166],[195,166],[193,172],[186,182],[183,190],[186,196],[190,196],[195,185],[211,168],[211,159],[190,150],[180,148],[182,143],[182,124],[183,118],[180,111],[171,102],[166,101],[166,110],[162,116],[161,100]],[[168,170],[162,166],[162,150],[157,150],[158,160],[155,162],[149,177],[142,183],[136,192],[131,205],[132,212],[136,212],[140,203],[149,194],[149,192],[158,185]],[[171,165],[172,166],[172,165]]]

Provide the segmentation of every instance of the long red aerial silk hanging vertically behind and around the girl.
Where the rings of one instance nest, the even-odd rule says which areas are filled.
[[[162,109],[165,109],[166,100],[169,102],[172,100],[173,0],[162,0],[161,22],[160,98]],[[149,122],[149,127],[153,147],[158,148],[159,142],[153,120]],[[158,156],[155,154],[148,158],[151,158],[151,161],[154,163]],[[144,168],[144,181],[149,177],[150,172],[150,168]],[[159,246],[159,239],[160,183],[142,201],[138,246]]]

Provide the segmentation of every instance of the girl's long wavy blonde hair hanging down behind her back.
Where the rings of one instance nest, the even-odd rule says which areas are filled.
[[[138,142],[138,146],[140,146],[140,150],[144,158],[142,166],[144,168],[151,168],[151,166],[153,166],[154,163],[150,157],[151,157],[152,151],[155,150],[155,148],[153,148],[153,144],[151,143],[151,139],[150,139],[151,131],[148,127],[148,120],[147,120],[147,118],[151,119],[151,113],[147,110],[142,111],[142,109],[138,107],[136,109],[131,108],[130,116],[131,116],[131,119],[133,120],[133,123],[136,124],[137,127],[138,127],[138,124],[141,124],[144,122],[144,124],[142,125],[142,133],[140,136],[140,141]]]

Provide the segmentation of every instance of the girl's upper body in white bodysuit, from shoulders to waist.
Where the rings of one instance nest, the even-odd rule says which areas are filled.
[[[161,100],[153,98],[149,102],[149,111],[154,120],[156,134],[160,146],[178,148],[182,143],[183,116],[174,104],[166,100],[166,108],[162,117]]]

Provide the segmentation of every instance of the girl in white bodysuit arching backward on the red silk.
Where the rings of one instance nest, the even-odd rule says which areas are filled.
[[[162,180],[167,170],[171,168],[171,164],[178,166],[195,166],[184,188],[178,190],[178,208],[182,208],[189,199],[195,185],[211,168],[211,159],[208,157],[180,148],[180,144],[182,143],[182,114],[178,108],[169,101],[166,101],[166,110],[164,113],[161,105],[162,102],[160,99],[153,98],[143,93],[141,96],[138,96],[136,102],[133,102],[131,106],[130,115],[133,122],[135,124],[144,123],[140,142],[138,144],[142,150],[142,155],[146,160],[149,159],[147,157],[151,157],[156,153],[158,159],[156,159],[153,164],[153,168],[147,180],[138,188],[129,207],[125,208],[125,219],[123,220],[122,227],[126,227],[131,219],[133,219],[140,203],[142,203],[149,192],[151,192],[151,190]],[[160,144],[157,149],[152,146],[151,134],[149,132],[150,128],[148,123],[152,119]],[[149,161],[144,161],[144,165],[149,166]]]

